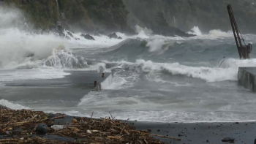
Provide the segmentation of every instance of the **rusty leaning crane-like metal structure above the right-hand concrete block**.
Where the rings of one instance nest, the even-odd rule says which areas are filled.
[[[236,24],[236,20],[233,15],[233,10],[230,4],[227,5],[227,12],[228,12],[228,15],[230,16],[230,23],[233,29],[235,40],[236,40],[236,46],[238,49],[239,57],[244,59],[249,58],[249,53],[252,52],[252,44],[250,43],[248,45],[245,44],[244,38],[241,35],[241,32]],[[244,42],[244,45],[242,44],[242,41]]]

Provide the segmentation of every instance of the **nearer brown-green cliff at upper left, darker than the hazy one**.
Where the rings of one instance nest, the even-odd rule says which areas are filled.
[[[40,29],[61,24],[73,31],[132,32],[121,0],[4,0],[4,4],[18,7]]]

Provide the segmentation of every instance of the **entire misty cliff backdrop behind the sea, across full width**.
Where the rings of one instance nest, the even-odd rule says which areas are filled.
[[[121,31],[134,34],[135,26],[154,34],[189,37],[184,31],[194,26],[207,33],[211,29],[231,29],[227,4],[232,4],[242,33],[256,33],[254,0],[0,0],[15,5],[39,29],[55,29],[61,24],[71,31],[95,33]],[[178,29],[177,29],[178,28]],[[182,31],[181,31],[181,30]]]

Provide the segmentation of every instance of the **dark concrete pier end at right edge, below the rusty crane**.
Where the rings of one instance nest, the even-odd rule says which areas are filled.
[[[256,67],[239,67],[238,83],[250,91],[256,91]]]

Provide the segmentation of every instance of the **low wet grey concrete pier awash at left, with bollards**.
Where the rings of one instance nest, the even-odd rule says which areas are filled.
[[[112,83],[112,73],[87,72],[87,71],[66,71],[70,75],[63,78],[50,80],[16,80],[4,82],[5,86],[0,87],[0,99],[8,101],[19,101],[28,99],[29,101],[63,100],[67,107],[75,107],[77,102],[90,91],[100,91]],[[97,81],[97,86],[94,86]],[[76,101],[72,104],[71,101]]]

